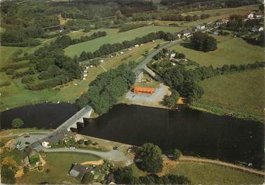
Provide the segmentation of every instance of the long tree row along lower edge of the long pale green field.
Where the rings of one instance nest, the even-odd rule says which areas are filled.
[[[93,59],[95,57],[100,57],[106,54],[111,54],[113,52],[118,52],[129,47],[134,47],[134,45],[139,45],[142,43],[148,43],[152,40],[164,39],[164,40],[176,40],[178,38],[177,34],[171,34],[164,31],[158,31],[156,33],[150,33],[143,37],[134,38],[134,40],[124,40],[122,43],[114,44],[104,44],[99,47],[99,50],[95,52],[85,52],[83,51],[80,54],[79,59],[81,61],[86,59]]]

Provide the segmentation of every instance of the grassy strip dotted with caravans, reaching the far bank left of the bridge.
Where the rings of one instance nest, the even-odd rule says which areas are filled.
[[[113,59],[105,59],[105,62],[101,66],[89,68],[89,73],[86,80],[74,80],[68,84],[64,84],[60,87],[60,90],[55,89],[43,89],[41,91],[29,91],[24,89],[21,83],[21,78],[16,80],[9,79],[5,73],[0,73],[1,80],[10,80],[12,83],[8,87],[1,87],[1,104],[0,110],[6,108],[14,108],[17,106],[28,105],[31,103],[42,103],[44,101],[70,101],[73,103],[83,92],[89,88],[89,83],[95,79],[96,75],[104,72],[104,69],[109,70],[116,68],[122,63],[128,63],[129,61],[141,61],[145,50],[152,50],[157,43],[162,43],[163,40],[156,40],[154,43],[146,43],[141,47],[134,48],[134,50],[126,51],[124,54],[114,57]],[[8,50],[12,54],[12,50]],[[9,56],[10,57],[10,56]],[[8,54],[6,54],[8,58]],[[86,61],[85,61],[86,62]],[[77,84],[77,85],[76,85]]]

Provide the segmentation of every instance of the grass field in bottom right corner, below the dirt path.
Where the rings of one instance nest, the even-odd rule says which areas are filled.
[[[192,184],[262,184],[263,177],[207,163],[179,163],[170,173],[188,177]]]

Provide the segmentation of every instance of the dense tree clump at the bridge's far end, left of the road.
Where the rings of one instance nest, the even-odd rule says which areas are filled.
[[[135,82],[135,75],[131,66],[122,64],[115,69],[96,76],[89,84],[89,89],[76,100],[79,108],[89,104],[97,114],[104,114],[117,103]]]

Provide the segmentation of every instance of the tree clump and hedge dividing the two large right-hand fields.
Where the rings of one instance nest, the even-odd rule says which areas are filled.
[[[201,98],[203,88],[197,83],[199,80],[205,80],[217,75],[235,73],[249,69],[264,67],[264,62],[255,62],[252,64],[235,64],[224,65],[222,68],[213,68],[213,66],[201,66],[194,70],[187,70],[184,67],[175,66],[163,71],[162,77],[164,82],[173,90],[177,91],[180,96],[187,97],[188,101]],[[170,103],[170,101],[168,101]]]

